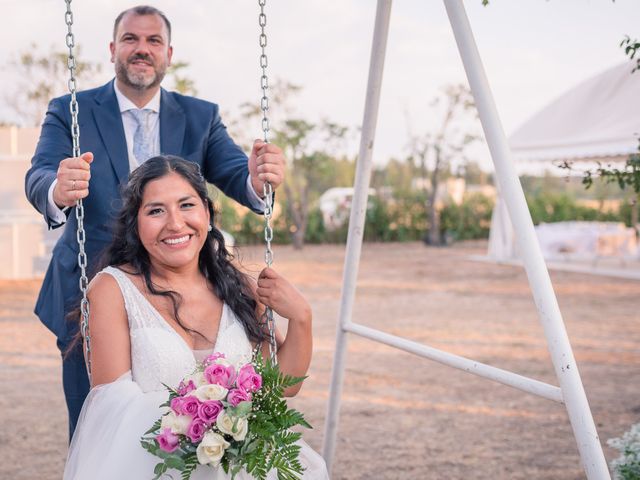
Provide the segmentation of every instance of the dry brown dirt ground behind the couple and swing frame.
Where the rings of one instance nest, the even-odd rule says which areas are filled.
[[[469,260],[482,244],[363,248],[354,321],[557,384],[524,271]],[[260,268],[261,250],[242,252]],[[321,449],[343,246],[276,247],[314,309],[314,356],[293,404]],[[640,282],[552,272],[600,438],[640,421]],[[39,281],[0,283],[0,478],[61,477],[67,418]],[[562,405],[350,337],[335,479],[582,479]],[[616,452],[605,447],[607,460]]]

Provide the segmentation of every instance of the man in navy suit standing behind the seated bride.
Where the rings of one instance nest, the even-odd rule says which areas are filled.
[[[50,229],[66,225],[35,308],[63,353],[78,331],[77,319],[66,318],[80,297],[78,199],[84,199],[91,271],[111,240],[120,186],[154,155],[174,154],[198,163],[209,182],[256,212],[264,208],[263,182],[277,187],[284,178],[285,160],[277,146],[256,140],[247,158],[227,134],[217,105],[160,88],[173,54],[170,42],[171,24],[153,7],[134,7],[116,18],[110,44],[115,79],[77,95],[80,150],[86,152],[80,157],[70,158],[70,96],[49,104],[25,190]],[[71,437],[89,391],[80,345],[63,357],[63,385]]]

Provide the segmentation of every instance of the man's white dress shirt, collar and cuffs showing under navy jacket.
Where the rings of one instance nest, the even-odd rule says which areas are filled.
[[[118,106],[120,108],[120,115],[122,117],[124,136],[127,141],[129,172],[132,172],[139,166],[139,163],[135,155],[133,154],[133,136],[135,135],[136,129],[138,128],[138,124],[133,115],[129,113],[129,110],[138,109],[138,107],[131,100],[129,100],[124,95],[124,93],[120,91],[116,82],[113,82],[113,86],[116,92]],[[146,108],[148,110],[151,110],[151,113],[149,115],[148,132],[150,138],[152,139],[151,141],[153,142],[152,151],[154,155],[160,154],[160,92],[160,89],[158,89],[158,92],[153,96],[149,103],[142,107],[142,109]],[[56,178],[49,187],[47,214],[54,223],[62,225],[67,221],[65,212],[69,209],[69,207],[64,207],[62,209],[58,208],[56,203],[53,201],[53,189],[55,188],[57,183],[58,179]],[[262,200],[253,189],[253,185],[251,184],[251,174],[249,174],[249,176],[247,177],[247,196],[249,197],[249,202],[254,209],[264,211],[266,204],[264,200]]]

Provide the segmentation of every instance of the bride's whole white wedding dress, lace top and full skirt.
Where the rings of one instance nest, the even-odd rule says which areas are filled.
[[[89,392],[69,447],[64,479],[152,479],[159,459],[142,448],[140,438],[166,411],[159,407],[167,399],[163,384],[178,385],[193,372],[196,358],[126,274],[113,267],[105,268],[101,274],[104,273],[116,279],[124,298],[131,338],[131,371]],[[224,353],[233,363],[251,358],[251,343],[244,327],[226,304],[213,351]],[[300,443],[300,460],[306,467],[304,478],[327,479],[322,457],[306,443]],[[175,470],[167,473],[180,478]],[[191,478],[230,477],[222,468],[201,465]],[[251,477],[241,473],[236,478]],[[275,472],[270,472],[269,478],[275,479]]]

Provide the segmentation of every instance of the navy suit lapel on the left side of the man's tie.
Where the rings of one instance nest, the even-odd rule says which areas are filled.
[[[95,100],[98,108],[93,109],[93,116],[102,143],[107,150],[118,182],[126,183],[129,178],[129,154],[127,153],[127,139],[122,126],[120,107],[113,89],[113,81],[98,90]]]

